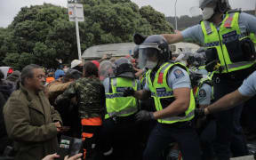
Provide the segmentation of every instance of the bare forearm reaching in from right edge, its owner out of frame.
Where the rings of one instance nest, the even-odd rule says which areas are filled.
[[[243,103],[246,100],[249,100],[251,97],[243,96],[238,90],[235,92],[231,92],[226,96],[222,97],[220,100],[216,101],[212,105],[204,108],[204,113],[212,114],[216,112],[220,112],[222,110],[228,110],[229,108],[233,108],[236,105]]]

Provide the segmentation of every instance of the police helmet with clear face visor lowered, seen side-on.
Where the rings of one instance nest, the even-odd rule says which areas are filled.
[[[139,66],[145,68],[148,59],[155,57],[157,61],[168,61],[172,57],[169,45],[161,35],[148,36],[139,46]]]

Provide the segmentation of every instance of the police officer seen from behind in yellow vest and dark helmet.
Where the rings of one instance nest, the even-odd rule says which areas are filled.
[[[101,145],[105,145],[103,154],[109,157],[114,151],[115,159],[134,159],[134,149],[138,146],[135,129],[138,102],[132,96],[124,97],[123,92],[128,87],[137,91],[139,84],[135,79],[132,63],[126,58],[116,60],[113,70],[115,76],[103,81],[107,108],[100,135],[103,140]]]

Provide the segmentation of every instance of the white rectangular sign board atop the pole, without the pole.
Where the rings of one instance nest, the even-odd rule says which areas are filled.
[[[69,21],[84,21],[83,4],[68,4]]]

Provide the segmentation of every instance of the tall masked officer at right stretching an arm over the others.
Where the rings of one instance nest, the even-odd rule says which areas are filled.
[[[164,34],[168,44],[192,41],[206,48],[208,71],[214,71],[214,98],[219,100],[235,91],[254,70],[256,18],[231,10],[228,0],[199,0],[203,11],[200,24],[177,34]],[[242,108],[217,114],[217,137],[214,150],[219,159],[247,154],[242,127]]]

